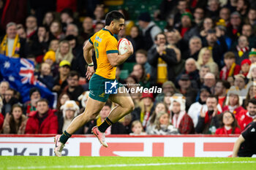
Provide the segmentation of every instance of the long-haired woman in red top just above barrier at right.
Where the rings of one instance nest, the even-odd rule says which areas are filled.
[[[225,111],[222,113],[220,128],[217,128],[215,134],[241,134],[235,115],[232,112]]]

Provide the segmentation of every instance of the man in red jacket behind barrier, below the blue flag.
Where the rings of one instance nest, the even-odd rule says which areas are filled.
[[[29,115],[25,134],[57,134],[58,125],[57,116],[49,109],[48,101],[42,98],[37,101],[37,111]]]

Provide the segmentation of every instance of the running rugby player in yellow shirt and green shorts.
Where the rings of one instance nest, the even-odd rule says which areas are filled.
[[[91,36],[83,47],[83,56],[86,63],[88,63],[86,78],[90,80],[89,98],[85,111],[72,120],[72,123],[70,123],[62,135],[55,136],[54,152],[56,156],[61,156],[64,144],[78,128],[97,117],[108,98],[110,98],[110,101],[118,104],[118,106],[110,111],[110,114],[101,125],[95,126],[91,130],[104,147],[108,147],[108,144],[105,142],[106,129],[134,109],[134,104],[129,93],[122,93],[121,95],[120,93],[105,93],[105,82],[110,82],[113,86],[117,85],[117,88],[124,88],[119,87],[116,81],[116,66],[124,63],[132,55],[133,48],[132,46],[128,47],[127,53],[118,55],[118,40],[116,38],[118,32],[123,28],[124,15],[118,11],[109,12],[105,18],[105,28],[95,33],[94,36]],[[94,48],[97,58],[97,70],[95,74],[94,63],[91,58],[92,48]],[[123,89],[122,91],[125,90]]]

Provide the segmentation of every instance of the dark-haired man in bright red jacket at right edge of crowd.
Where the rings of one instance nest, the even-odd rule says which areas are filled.
[[[252,98],[249,100],[249,103],[246,107],[247,110],[241,112],[236,119],[238,120],[238,125],[241,127],[243,131],[246,125],[252,122],[252,120],[256,117],[256,98]]]

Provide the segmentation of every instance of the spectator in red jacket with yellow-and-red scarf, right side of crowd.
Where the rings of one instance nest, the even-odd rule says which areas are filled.
[[[220,80],[227,80],[228,77],[232,77],[239,74],[241,67],[236,64],[236,56],[233,52],[227,52],[224,55],[225,66],[219,73]]]

